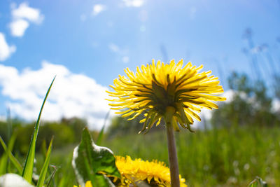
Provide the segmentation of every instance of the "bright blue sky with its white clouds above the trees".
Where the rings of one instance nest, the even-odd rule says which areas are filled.
[[[254,48],[242,37],[247,28]],[[231,71],[251,74],[242,48],[256,54],[263,43],[260,68],[269,53],[280,69],[279,37],[277,0],[1,1],[0,116],[10,107],[13,116],[36,119],[57,74],[45,118],[80,116],[101,124],[108,110],[103,92],[126,67],[183,58],[225,82]]]

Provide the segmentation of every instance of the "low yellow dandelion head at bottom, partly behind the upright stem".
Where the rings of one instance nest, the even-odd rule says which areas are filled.
[[[153,160],[151,162],[130,156],[116,156],[116,166],[122,176],[121,186],[129,186],[137,181],[148,181],[156,186],[170,186],[169,167],[164,162]],[[186,180],[180,176],[181,186],[187,186]]]

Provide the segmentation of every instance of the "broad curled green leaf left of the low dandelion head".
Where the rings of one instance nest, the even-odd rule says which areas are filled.
[[[90,132],[85,128],[80,144],[73,151],[72,165],[78,183],[83,185],[86,181],[92,181],[92,186],[114,186],[104,174],[120,178],[115,161],[113,152],[109,148],[95,145]]]

